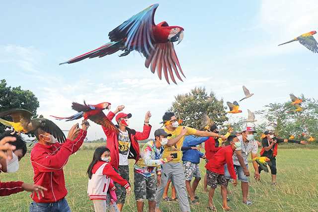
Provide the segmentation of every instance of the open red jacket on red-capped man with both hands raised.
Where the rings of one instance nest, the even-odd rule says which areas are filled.
[[[115,114],[113,112],[109,112],[107,115],[107,118],[111,121],[115,117]],[[118,149],[118,135],[115,131],[112,131],[110,129],[105,128],[102,126],[103,131],[107,137],[106,141],[106,147],[110,150],[110,157],[111,157],[111,165],[118,169],[119,166],[119,149]],[[140,149],[139,149],[139,143],[138,141],[143,141],[149,138],[150,131],[151,131],[151,125],[147,126],[144,125],[143,132],[136,132],[135,130],[126,128],[128,131],[128,135],[131,141],[131,145],[129,148],[129,159],[135,159],[136,162],[138,161],[140,157]]]

